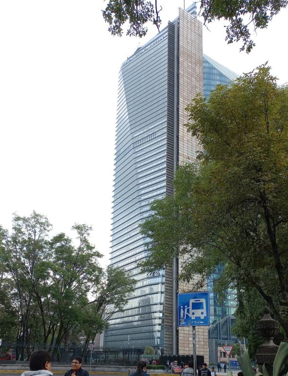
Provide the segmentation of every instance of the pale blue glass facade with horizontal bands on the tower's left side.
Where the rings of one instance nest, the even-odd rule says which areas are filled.
[[[139,224],[149,215],[150,204],[165,196],[170,168],[170,28],[138,48],[119,73],[111,266],[125,269],[137,284],[124,312],[111,317],[105,346],[164,345],[165,272],[141,274],[137,263],[147,256]]]

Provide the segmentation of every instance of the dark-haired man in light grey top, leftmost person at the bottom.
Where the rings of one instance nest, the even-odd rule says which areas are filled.
[[[51,372],[51,355],[45,350],[32,352],[29,358],[30,371],[25,371],[21,376],[53,376]]]

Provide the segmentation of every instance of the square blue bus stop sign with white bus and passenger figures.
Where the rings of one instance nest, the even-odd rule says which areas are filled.
[[[209,320],[209,293],[178,294],[178,326],[206,326]]]

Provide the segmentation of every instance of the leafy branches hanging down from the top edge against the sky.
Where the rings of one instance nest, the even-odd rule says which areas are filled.
[[[146,35],[148,22],[155,24],[159,30],[161,20],[159,12],[162,7],[157,0],[107,0],[106,8],[102,11],[105,21],[110,25],[112,35],[123,34],[123,26],[128,24],[127,35]],[[204,24],[215,20],[228,21],[226,40],[228,43],[242,41],[241,50],[250,52],[255,46],[251,39],[250,26],[254,30],[266,28],[273,16],[287,6],[287,0],[266,1],[212,1],[201,0],[199,14],[204,18]]]

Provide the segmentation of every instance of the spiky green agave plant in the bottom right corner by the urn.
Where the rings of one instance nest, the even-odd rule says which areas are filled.
[[[237,359],[244,376],[283,376],[288,373],[288,343],[281,342],[273,365],[264,363],[262,373],[254,373],[251,367],[248,350],[246,350],[242,356],[238,356]]]

